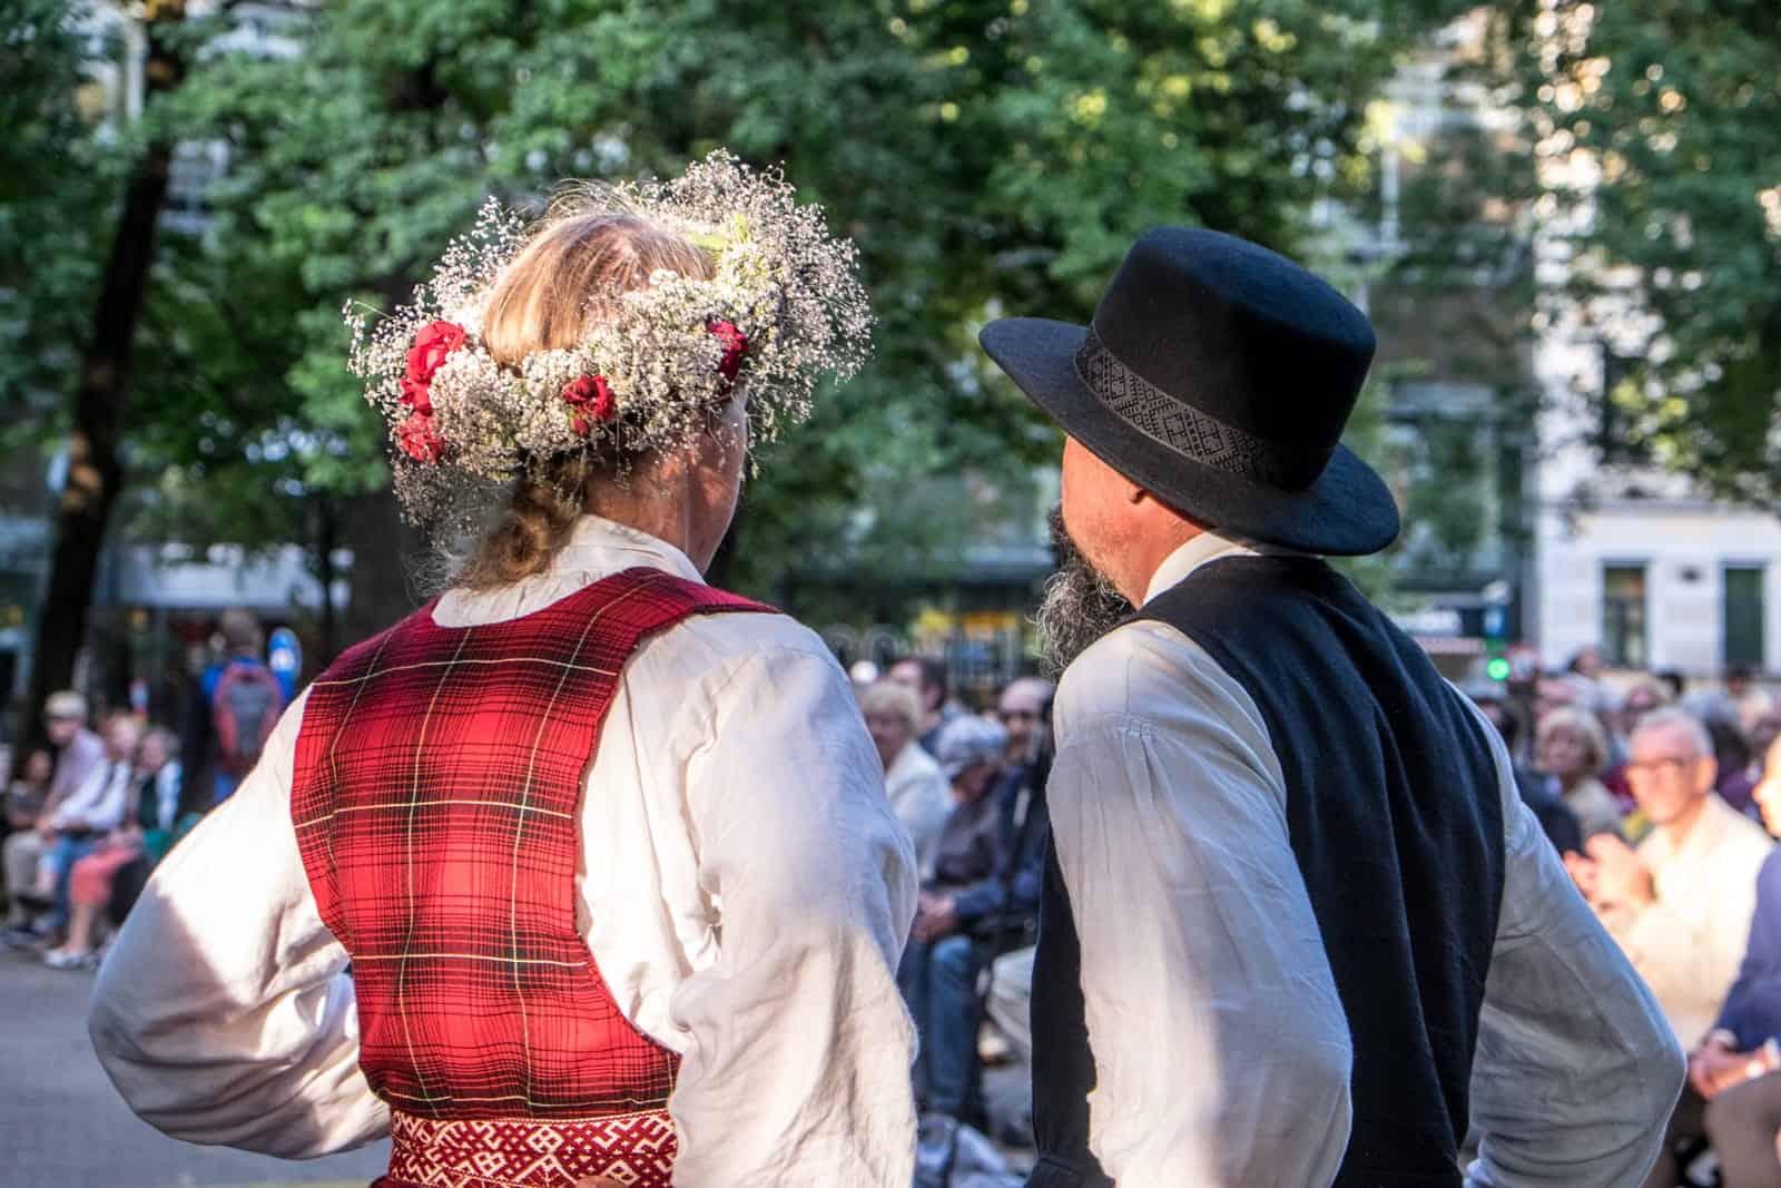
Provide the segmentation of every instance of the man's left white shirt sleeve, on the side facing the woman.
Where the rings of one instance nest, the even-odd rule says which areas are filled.
[[[1095,1158],[1133,1188],[1327,1184],[1354,1053],[1254,702],[1138,623],[1065,675],[1058,737]]]

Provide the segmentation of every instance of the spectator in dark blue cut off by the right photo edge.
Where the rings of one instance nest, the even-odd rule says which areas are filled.
[[[1769,832],[1781,837],[1781,743],[1772,741],[1756,787]],[[1688,1088],[1669,1126],[1669,1143],[1710,1138],[1719,1156],[1722,1188],[1772,1188],[1781,1183],[1776,1133],[1781,1131],[1781,850],[1772,850],[1756,876],[1756,914],[1738,980],[1726,994],[1719,1021],[1688,1056]],[[1665,1188],[1676,1183],[1674,1161],[1660,1163]],[[1662,1179],[1671,1176],[1671,1179]]]

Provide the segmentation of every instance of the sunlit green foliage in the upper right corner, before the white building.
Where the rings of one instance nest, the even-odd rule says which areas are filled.
[[[1571,251],[1565,308],[1621,356],[1605,454],[1715,495],[1781,497],[1781,9],[1761,0],[1512,5],[1509,94]]]

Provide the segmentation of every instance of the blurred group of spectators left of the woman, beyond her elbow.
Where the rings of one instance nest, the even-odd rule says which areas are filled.
[[[226,800],[290,702],[260,623],[228,611],[217,659],[182,723],[98,716],[73,689],[45,704],[41,745],[0,748],[5,928],[0,942],[53,969],[93,969],[155,864]]]

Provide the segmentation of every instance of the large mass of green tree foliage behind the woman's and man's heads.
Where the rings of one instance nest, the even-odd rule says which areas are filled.
[[[965,509],[858,508],[915,508],[933,476],[1006,495],[1056,445],[976,328],[1086,317],[1156,223],[1305,249],[1313,203],[1364,187],[1366,102],[1457,7],[385,0],[276,23],[255,5],[289,52],[210,30],[151,112],[228,166],[203,235],[157,273],[135,460],[189,534],[276,538],[308,515],[276,500],[381,488],[344,301],[401,301],[486,194],[536,208],[563,178],[727,144],[784,162],[858,239],[880,315],[867,372],[766,458],[730,577],[771,595],[791,570],[931,557]]]

